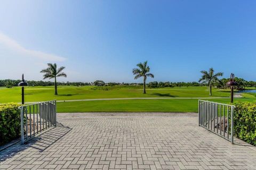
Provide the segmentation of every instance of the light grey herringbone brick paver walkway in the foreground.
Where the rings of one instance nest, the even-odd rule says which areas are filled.
[[[255,147],[199,127],[197,114],[62,113],[58,121],[69,128],[0,152],[0,169],[256,169]]]

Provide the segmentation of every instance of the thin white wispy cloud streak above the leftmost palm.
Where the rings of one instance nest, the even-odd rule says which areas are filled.
[[[58,55],[27,49],[22,45],[20,45],[19,43],[17,43],[17,41],[15,41],[14,39],[4,35],[1,32],[0,32],[0,44],[3,44],[4,46],[14,51],[21,53],[22,55],[37,57],[45,61],[65,61],[66,60],[66,58]]]

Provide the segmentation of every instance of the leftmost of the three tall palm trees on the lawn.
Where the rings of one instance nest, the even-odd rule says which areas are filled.
[[[45,73],[43,75],[44,79],[53,79],[54,78],[54,87],[55,87],[55,95],[58,95],[57,92],[57,77],[67,77],[67,74],[62,72],[62,70],[65,69],[65,67],[61,66],[59,69],[57,69],[57,64],[54,63],[48,63],[48,67],[46,69],[43,69],[41,73]]]

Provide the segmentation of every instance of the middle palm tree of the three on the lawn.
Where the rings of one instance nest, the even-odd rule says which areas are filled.
[[[147,62],[137,64],[138,68],[132,70],[132,73],[135,75],[134,79],[143,77],[143,94],[146,94],[146,80],[147,77],[154,78],[154,75],[149,73],[149,66]]]

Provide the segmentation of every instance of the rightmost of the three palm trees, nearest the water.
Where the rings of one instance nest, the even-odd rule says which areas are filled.
[[[201,71],[201,73],[203,75],[202,75],[202,78],[199,79],[198,82],[207,83],[208,86],[210,87],[210,96],[212,96],[212,84],[214,82],[219,82],[220,80],[218,79],[218,77],[221,77],[223,75],[223,73],[219,72],[219,73],[214,74],[213,68],[210,68],[209,72],[203,70],[203,71]]]

